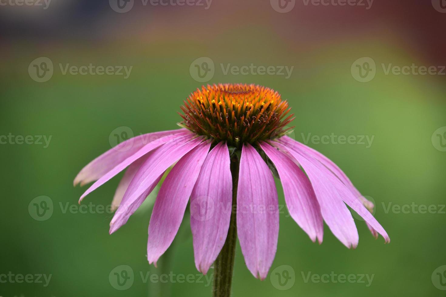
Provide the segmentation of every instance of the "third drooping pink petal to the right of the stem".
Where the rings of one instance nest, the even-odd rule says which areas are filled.
[[[306,156],[294,151],[295,147],[288,148],[278,142],[271,142],[274,146],[290,154],[301,164],[306,174],[310,178],[316,198],[321,207],[322,217],[330,228],[331,232],[347,247],[356,248],[358,245],[358,230],[350,211],[344,204],[341,196],[330,181],[325,172],[322,171],[322,164],[315,162]]]

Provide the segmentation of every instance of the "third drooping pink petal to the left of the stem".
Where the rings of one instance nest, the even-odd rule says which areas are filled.
[[[163,172],[202,142],[202,138],[192,137],[194,136],[188,135],[186,138],[172,139],[149,155],[130,182],[121,205],[110,222],[110,234],[127,223],[128,218],[150,194],[148,189],[152,191],[157,185],[157,179],[162,176]]]

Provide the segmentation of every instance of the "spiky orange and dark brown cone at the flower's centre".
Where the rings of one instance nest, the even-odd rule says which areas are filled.
[[[286,134],[293,114],[276,91],[260,85],[202,86],[184,101],[181,126],[229,146],[255,143]],[[285,118],[286,117],[286,118]]]

